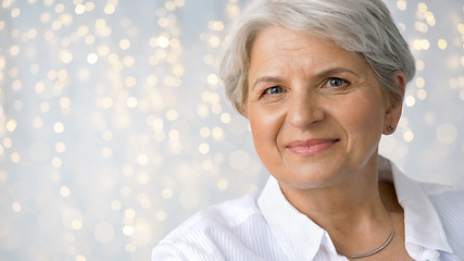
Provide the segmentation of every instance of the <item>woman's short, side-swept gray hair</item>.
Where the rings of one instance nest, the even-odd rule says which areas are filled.
[[[246,114],[251,46],[260,32],[272,26],[308,32],[360,54],[390,104],[402,102],[403,92],[392,76],[402,71],[410,82],[415,62],[381,0],[258,0],[236,24],[220,67],[227,98],[241,114]]]

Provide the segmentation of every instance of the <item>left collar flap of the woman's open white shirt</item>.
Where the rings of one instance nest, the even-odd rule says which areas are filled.
[[[287,201],[273,176],[261,192],[258,206],[289,260],[313,260],[322,241],[328,238],[322,227]],[[336,252],[333,244],[326,247]]]

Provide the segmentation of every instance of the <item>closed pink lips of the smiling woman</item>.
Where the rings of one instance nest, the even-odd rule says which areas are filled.
[[[338,139],[297,140],[287,145],[287,149],[301,157],[316,156],[338,142]]]

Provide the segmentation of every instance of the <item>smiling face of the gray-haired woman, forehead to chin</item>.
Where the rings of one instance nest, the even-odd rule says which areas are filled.
[[[246,113],[258,154],[280,184],[323,187],[372,169],[401,105],[388,110],[364,60],[284,27],[264,29],[250,57]]]

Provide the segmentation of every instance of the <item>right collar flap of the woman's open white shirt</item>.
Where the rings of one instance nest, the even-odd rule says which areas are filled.
[[[440,217],[421,184],[406,177],[391,164],[398,201],[404,210],[407,252],[418,247],[452,252]]]

